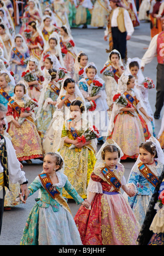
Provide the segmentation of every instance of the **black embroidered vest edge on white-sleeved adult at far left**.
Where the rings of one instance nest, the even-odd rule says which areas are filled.
[[[0,139],[4,139],[3,135],[0,133]],[[3,178],[4,178],[4,186],[9,189],[9,172],[8,172],[8,159],[7,159],[7,149],[4,143],[0,147],[0,158],[3,166]]]

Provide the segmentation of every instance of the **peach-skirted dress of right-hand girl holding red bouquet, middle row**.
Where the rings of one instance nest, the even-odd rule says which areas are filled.
[[[138,113],[137,109],[141,106],[135,92],[132,90],[131,95],[124,92],[124,95],[131,99],[128,103],[132,104],[136,114],[128,111],[119,112],[114,119],[114,128],[109,138],[112,138],[122,149],[124,156],[121,159],[135,159],[139,154],[139,145],[151,135],[145,120]]]

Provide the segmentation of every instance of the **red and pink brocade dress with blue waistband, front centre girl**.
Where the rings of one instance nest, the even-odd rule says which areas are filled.
[[[124,167],[119,163],[113,173],[121,181]],[[92,172],[91,180],[89,191],[98,189],[91,210],[80,207],[74,217],[83,245],[136,245],[139,225],[124,196],[99,169]]]

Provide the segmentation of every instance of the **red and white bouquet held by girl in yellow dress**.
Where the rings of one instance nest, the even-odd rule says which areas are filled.
[[[81,137],[78,137],[78,142],[83,142],[83,144],[85,144],[86,141],[91,141],[92,139],[95,138],[100,138],[100,135],[95,125],[93,125],[93,127],[89,127]],[[75,148],[75,145],[72,144],[71,147],[69,147],[69,149],[73,148]]]

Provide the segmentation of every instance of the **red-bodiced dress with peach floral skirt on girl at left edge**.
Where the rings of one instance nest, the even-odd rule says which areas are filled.
[[[22,108],[25,105],[25,100],[14,101],[19,104]],[[42,158],[42,144],[40,141],[39,133],[37,131],[36,125],[31,117],[27,117],[22,123],[20,128],[17,128],[12,120],[18,120],[20,115],[16,110],[11,106],[10,102],[8,103],[8,133],[11,137],[11,142],[13,147],[16,150],[16,156],[19,161]]]

